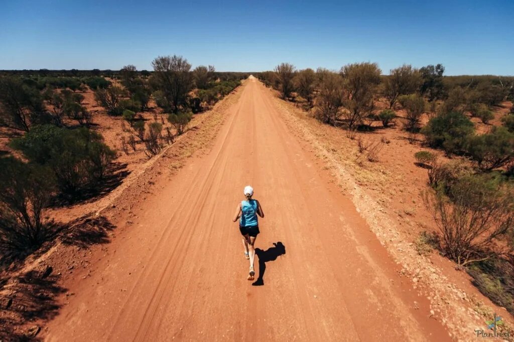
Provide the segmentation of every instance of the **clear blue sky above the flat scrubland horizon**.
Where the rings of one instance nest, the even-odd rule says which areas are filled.
[[[0,0],[0,69],[151,70],[183,55],[219,71],[442,63],[514,75],[514,0]]]

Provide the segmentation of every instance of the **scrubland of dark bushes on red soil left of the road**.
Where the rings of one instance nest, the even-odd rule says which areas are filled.
[[[45,208],[96,196],[120,153],[151,158],[248,74],[216,72],[181,56],[159,56],[153,71],[0,71],[0,262],[20,259],[51,237]],[[103,111],[91,112],[94,103]],[[153,121],[143,113],[152,113]],[[102,116],[119,118],[119,144],[105,142]],[[167,124],[168,122],[168,124]],[[120,146],[119,150],[117,146]]]

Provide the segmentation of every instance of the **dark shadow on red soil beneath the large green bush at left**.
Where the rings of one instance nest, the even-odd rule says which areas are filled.
[[[128,175],[130,171],[126,169],[126,163],[111,163],[105,172],[105,176],[97,183],[82,189],[72,195],[62,195],[54,198],[50,207],[59,207],[71,204],[85,204],[95,202],[105,195],[111,193],[117,188]]]

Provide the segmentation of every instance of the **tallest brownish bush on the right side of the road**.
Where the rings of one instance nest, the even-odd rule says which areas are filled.
[[[344,101],[343,117],[349,130],[362,124],[363,118],[374,109],[373,97],[380,84],[380,72],[376,63],[348,64],[341,68]]]

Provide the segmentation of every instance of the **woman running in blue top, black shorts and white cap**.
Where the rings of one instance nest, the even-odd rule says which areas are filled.
[[[246,201],[242,201],[237,204],[235,215],[232,221],[239,220],[239,231],[243,235],[243,246],[245,248],[245,257],[250,259],[250,272],[248,273],[248,280],[253,280],[255,271],[253,270],[253,260],[255,259],[255,238],[259,234],[259,223],[257,221],[257,215],[264,217],[261,203],[258,200],[252,199],[253,188],[248,185],[245,186],[243,191]]]

